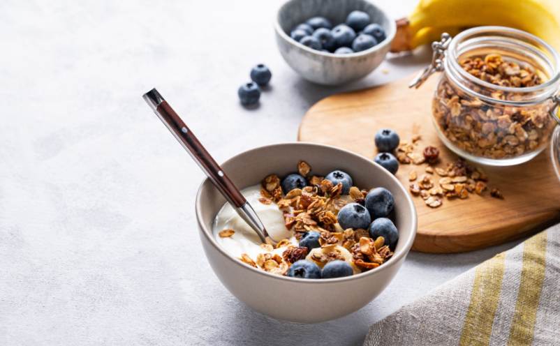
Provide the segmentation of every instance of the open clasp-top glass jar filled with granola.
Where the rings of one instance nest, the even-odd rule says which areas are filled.
[[[560,103],[559,55],[540,38],[506,27],[476,27],[432,44],[419,87],[443,71],[432,101],[442,142],[485,165],[524,163],[546,148]]]

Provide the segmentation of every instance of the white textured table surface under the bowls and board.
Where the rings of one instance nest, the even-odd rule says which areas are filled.
[[[395,17],[415,3],[377,2]],[[411,253],[378,299],[323,324],[279,322],[229,294],[198,239],[202,173],[142,93],[158,87],[221,161],[293,141],[317,100],[429,59],[318,87],[277,52],[278,4],[0,3],[0,345],[357,345],[372,322],[514,245]],[[237,87],[260,62],[272,88],[245,110]]]

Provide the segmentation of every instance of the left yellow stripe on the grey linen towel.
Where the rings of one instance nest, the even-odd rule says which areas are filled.
[[[500,253],[476,268],[460,346],[489,344],[505,269],[506,253]]]

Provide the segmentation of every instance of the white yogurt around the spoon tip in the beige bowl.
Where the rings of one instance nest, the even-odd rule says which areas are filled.
[[[259,198],[263,197],[260,195],[260,185],[244,188],[241,193],[253,206],[272,239],[277,241],[290,239],[297,246],[297,240],[293,236],[293,232],[286,228],[283,213],[278,209],[277,204],[259,202]],[[227,229],[235,231],[233,236],[226,238],[219,236],[219,232]],[[267,252],[260,247],[261,241],[255,231],[245,223],[229,203],[224,204],[216,215],[212,231],[216,241],[234,257],[240,257],[246,253],[254,260],[259,253]],[[273,253],[281,255],[284,250],[286,250],[286,246],[274,249]]]

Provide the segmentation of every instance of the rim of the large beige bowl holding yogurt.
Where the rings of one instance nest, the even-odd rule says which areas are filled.
[[[341,149],[341,148],[337,148],[336,146],[330,146],[330,145],[326,145],[326,144],[317,144],[317,143],[311,143],[311,142],[281,142],[281,143],[275,143],[275,144],[267,144],[267,145],[264,145],[264,146],[257,146],[255,148],[252,148],[252,149],[249,149],[249,150],[246,150],[246,151],[242,151],[241,153],[237,153],[235,156],[232,156],[231,158],[228,158],[228,160],[224,161],[223,164],[229,163],[231,160],[235,160],[239,156],[244,155],[246,153],[250,153],[251,151],[258,151],[258,150],[262,150],[262,149],[269,148],[269,147],[272,147],[272,146],[292,146],[292,145],[316,146],[316,147],[321,147],[321,148],[327,148],[329,150],[341,151],[342,153],[344,153],[348,156],[354,156],[355,158],[358,158],[360,160],[366,160],[368,163],[371,163],[371,165],[374,165],[374,167],[377,167],[378,170],[380,170],[380,172],[382,172],[382,174],[388,174],[390,179],[392,179],[393,181],[395,181],[395,183],[397,183],[397,186],[401,189],[401,193],[404,194],[405,201],[406,201],[406,206],[408,207],[407,209],[409,211],[412,211],[412,213],[411,213],[411,218],[412,218],[412,220],[411,220],[411,225],[412,225],[411,236],[409,236],[408,239],[406,239],[406,242],[404,243],[404,248],[399,253],[394,254],[383,265],[378,266],[377,268],[371,269],[371,270],[366,271],[364,273],[358,273],[358,274],[355,274],[355,275],[352,275],[352,276],[345,276],[343,278],[305,279],[305,278],[291,278],[289,276],[279,276],[279,275],[276,275],[276,274],[267,273],[266,271],[254,268],[253,266],[249,266],[249,264],[245,264],[245,263],[241,262],[240,260],[237,260],[235,257],[233,257],[233,255],[230,255],[224,248],[222,248],[219,245],[219,243],[217,243],[216,239],[214,239],[212,230],[207,230],[207,227],[202,223],[202,215],[201,215],[201,212],[200,212],[200,209],[201,209],[200,195],[202,194],[202,187],[204,186],[206,181],[209,181],[208,178],[205,178],[205,179],[202,180],[202,183],[200,183],[200,186],[198,187],[198,191],[196,193],[196,201],[195,201],[196,222],[198,223],[199,229],[202,230],[202,234],[209,241],[209,243],[212,244],[212,246],[214,246],[214,248],[216,248],[220,253],[225,255],[228,258],[228,260],[232,261],[233,263],[237,264],[238,266],[241,266],[244,269],[249,269],[250,271],[258,273],[259,275],[263,275],[267,278],[272,278],[272,279],[275,279],[275,280],[282,280],[282,281],[288,280],[288,282],[292,281],[292,282],[295,282],[295,283],[305,283],[305,284],[315,284],[315,285],[317,285],[317,284],[320,285],[322,283],[323,284],[342,283],[342,282],[346,282],[346,281],[360,280],[361,278],[367,278],[368,276],[372,276],[375,273],[378,273],[380,271],[385,271],[385,270],[389,269],[390,266],[396,265],[398,262],[400,262],[401,258],[406,257],[406,255],[408,255],[408,253],[410,252],[411,247],[413,245],[413,242],[414,242],[414,239],[415,239],[415,236],[416,236],[416,232],[418,230],[418,216],[417,216],[417,213],[416,213],[416,209],[415,209],[412,197],[410,195],[408,195],[408,192],[406,191],[406,189],[404,188],[402,183],[393,174],[390,174],[390,172],[386,171],[383,167],[381,167],[381,165],[378,165],[378,163],[375,163],[373,160],[369,160],[365,156],[359,155],[357,153],[353,153],[352,151],[348,151],[346,149]]]

